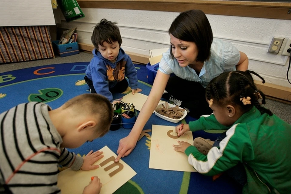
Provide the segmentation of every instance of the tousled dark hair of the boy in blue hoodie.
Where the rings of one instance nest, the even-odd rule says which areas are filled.
[[[103,42],[112,44],[112,42],[118,42],[121,46],[122,39],[117,22],[110,22],[107,19],[102,19],[94,28],[91,40],[96,49],[98,45],[103,46]]]

